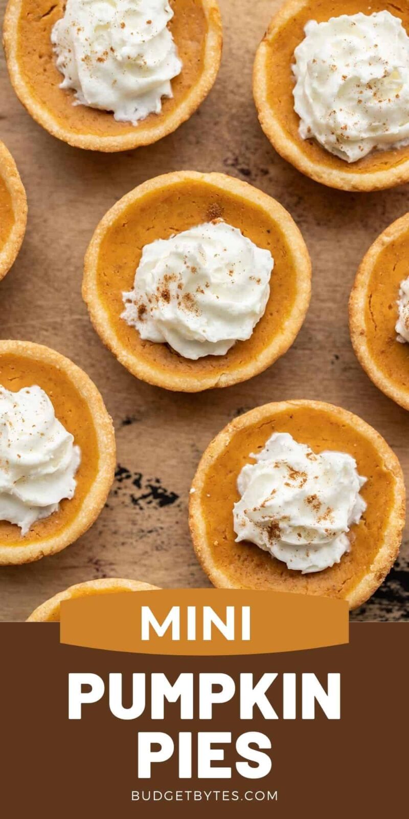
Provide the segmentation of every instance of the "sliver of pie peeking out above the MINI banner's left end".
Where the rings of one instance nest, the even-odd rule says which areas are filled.
[[[60,591],[58,595],[51,597],[50,600],[46,600],[45,603],[34,609],[26,622],[60,622],[60,605],[63,600],[73,600],[75,597],[88,595],[110,595],[119,591],[151,591],[158,588],[159,586],[150,586],[149,583],[142,583],[139,580],[123,580],[120,577],[88,580],[85,583],[70,586],[65,591]]]

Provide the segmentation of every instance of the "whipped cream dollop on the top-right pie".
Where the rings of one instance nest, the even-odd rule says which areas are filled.
[[[310,20],[294,51],[299,134],[355,162],[409,144],[409,37],[389,11]]]

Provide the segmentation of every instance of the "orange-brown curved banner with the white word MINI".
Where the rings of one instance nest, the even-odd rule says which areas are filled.
[[[61,643],[139,654],[272,654],[348,643],[348,604],[276,591],[166,589],[61,604]]]

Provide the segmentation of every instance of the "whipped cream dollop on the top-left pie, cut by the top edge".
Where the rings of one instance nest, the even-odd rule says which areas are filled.
[[[52,28],[56,66],[80,105],[132,122],[159,114],[180,74],[168,0],[67,0]]]

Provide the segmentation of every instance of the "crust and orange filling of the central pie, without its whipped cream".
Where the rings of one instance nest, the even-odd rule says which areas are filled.
[[[122,293],[133,288],[146,243],[218,217],[272,251],[270,299],[246,342],[226,355],[192,361],[165,344],[142,341],[120,318]],[[310,296],[308,250],[290,214],[266,193],[224,174],[179,171],[143,183],[104,216],[85,257],[83,298],[97,333],[129,372],[168,390],[228,387],[261,373],[294,342]]]

